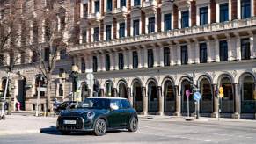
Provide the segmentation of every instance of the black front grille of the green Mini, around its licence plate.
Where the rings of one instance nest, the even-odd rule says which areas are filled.
[[[76,120],[76,124],[64,124],[64,120]],[[84,128],[84,119],[81,117],[60,117],[58,119],[58,129],[62,130],[79,130]]]

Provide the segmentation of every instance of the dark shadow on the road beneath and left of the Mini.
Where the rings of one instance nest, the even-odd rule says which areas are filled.
[[[110,130],[106,131],[106,133],[124,133],[128,132],[127,130]],[[50,126],[46,128],[41,128],[40,133],[44,134],[50,134],[50,135],[62,135],[57,129],[56,126]],[[84,135],[94,135],[93,133],[90,132],[72,132],[69,135],[74,135],[74,136],[84,136]]]

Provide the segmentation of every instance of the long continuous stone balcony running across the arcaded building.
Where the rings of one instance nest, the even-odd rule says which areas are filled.
[[[70,53],[80,53],[86,49],[99,49],[106,47],[141,46],[154,42],[166,42],[170,40],[184,40],[195,37],[204,37],[224,34],[226,32],[247,32],[256,30],[256,18],[233,20],[225,23],[193,26],[185,29],[175,29],[168,32],[155,32],[150,34],[126,37],[122,39],[98,41],[83,45],[76,45],[70,48]]]

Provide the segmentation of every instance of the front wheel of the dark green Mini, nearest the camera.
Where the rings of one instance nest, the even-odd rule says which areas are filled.
[[[95,121],[93,133],[96,136],[102,136],[106,133],[106,121],[104,119],[97,119]]]

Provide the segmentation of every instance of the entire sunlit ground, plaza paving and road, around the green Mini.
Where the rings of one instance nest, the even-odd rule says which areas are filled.
[[[141,117],[139,130],[113,131],[96,137],[92,133],[61,135],[55,118],[11,116],[0,121],[0,143],[255,143],[256,121],[208,119],[196,121]],[[12,126],[11,126],[12,125]],[[10,127],[10,128],[8,128]],[[15,128],[16,127],[16,128]]]

